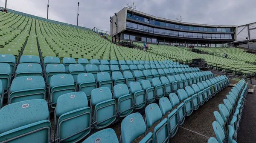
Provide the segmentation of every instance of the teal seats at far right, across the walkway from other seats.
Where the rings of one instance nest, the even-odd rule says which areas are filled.
[[[240,80],[223,100],[224,104],[219,104],[219,111],[213,112],[216,121],[212,123],[216,138],[211,137],[208,143],[236,143],[239,131],[239,122],[244,109],[249,86],[244,79]]]

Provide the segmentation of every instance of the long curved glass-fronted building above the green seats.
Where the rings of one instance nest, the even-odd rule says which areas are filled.
[[[110,33],[116,36],[117,31],[121,40],[207,47],[224,46],[236,40],[237,26],[185,23],[126,7],[111,18]]]

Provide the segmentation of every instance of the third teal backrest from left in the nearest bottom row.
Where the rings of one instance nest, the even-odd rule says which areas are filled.
[[[145,108],[147,126],[150,128],[155,122],[161,119],[162,114],[157,103],[151,103]]]

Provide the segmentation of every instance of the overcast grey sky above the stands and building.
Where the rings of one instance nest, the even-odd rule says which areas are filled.
[[[49,0],[49,19],[109,31],[109,17],[132,0]],[[256,0],[134,0],[136,10],[184,22],[243,25],[256,22]],[[5,0],[0,0],[4,7]],[[47,0],[8,0],[7,8],[47,18]]]

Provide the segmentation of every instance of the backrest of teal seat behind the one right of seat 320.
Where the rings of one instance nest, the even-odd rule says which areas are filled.
[[[73,85],[74,79],[71,74],[56,74],[51,77],[50,88],[55,86]]]

